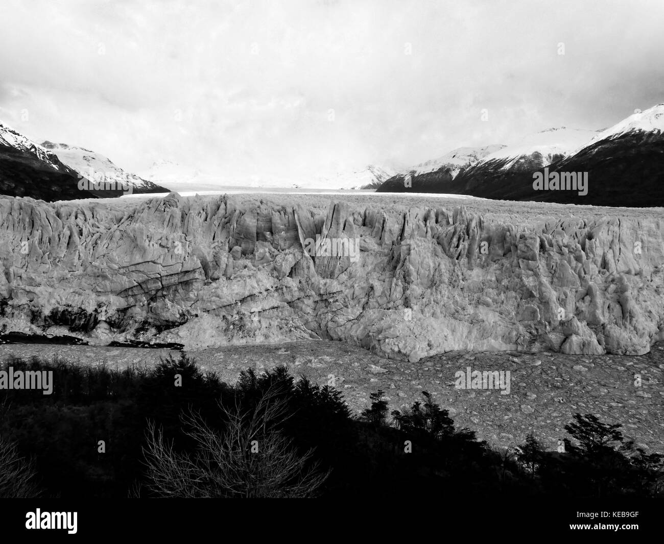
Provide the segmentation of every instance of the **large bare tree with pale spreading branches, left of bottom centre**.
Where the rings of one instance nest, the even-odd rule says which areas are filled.
[[[218,403],[223,431],[211,429],[200,413],[181,416],[185,433],[197,445],[195,454],[176,452],[162,429],[149,423],[143,448],[145,487],[159,497],[311,497],[329,472],[311,462],[313,449],[299,454],[280,425],[290,417],[280,387],[272,385],[256,407],[243,411],[236,397],[232,408]]]

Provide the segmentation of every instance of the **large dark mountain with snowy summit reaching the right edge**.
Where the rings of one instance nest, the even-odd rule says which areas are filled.
[[[585,141],[584,141],[585,140]],[[566,180],[537,186],[537,178]],[[663,206],[664,104],[602,131],[549,130],[487,155],[450,192],[500,200]],[[553,187],[553,188],[551,188]]]

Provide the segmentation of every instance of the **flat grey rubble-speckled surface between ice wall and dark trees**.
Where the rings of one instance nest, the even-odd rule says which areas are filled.
[[[113,368],[152,365],[166,349],[4,344],[7,356],[52,358],[81,364],[105,362]],[[664,452],[664,343],[643,356],[570,356],[540,352],[449,352],[417,363],[388,360],[341,342],[311,340],[284,344],[228,346],[187,352],[203,370],[234,383],[241,370],[287,364],[294,375],[325,385],[331,380],[356,413],[369,407],[369,394],[385,391],[389,409],[400,409],[429,391],[458,427],[477,431],[496,446],[523,442],[535,431],[548,449],[567,437],[564,425],[576,412],[594,413],[605,423],[621,423],[623,434],[647,450]],[[456,372],[510,372],[509,394],[498,389],[456,389]],[[635,385],[635,375],[640,386]]]

